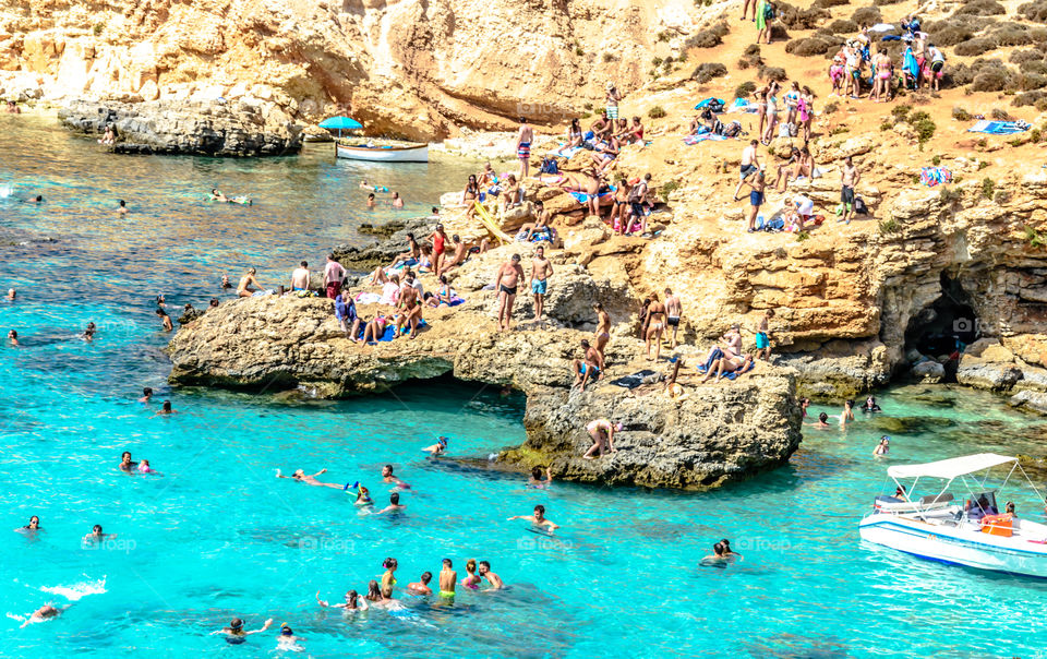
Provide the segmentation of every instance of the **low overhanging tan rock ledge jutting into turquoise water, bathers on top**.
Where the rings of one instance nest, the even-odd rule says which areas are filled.
[[[364,317],[388,308],[361,305]],[[527,396],[522,446],[498,462],[550,465],[554,477],[582,482],[701,489],[784,464],[801,440],[795,373],[761,363],[738,380],[691,385],[674,402],[662,385],[627,390],[609,381],[650,367],[642,344],[615,336],[605,378],[571,390],[570,360],[580,357],[573,330],[520,325],[495,332],[479,304],[426,310],[418,338],[361,346],[345,338],[324,298],[258,297],[226,302],[181,327],[172,338],[171,382],[254,391],[300,387],[321,397],[382,392],[409,380],[453,375],[512,386]],[[697,363],[697,360],[695,360]],[[661,368],[667,367],[663,362]],[[617,452],[582,459],[588,421],[621,421]],[[438,434],[443,429],[433,429]]]

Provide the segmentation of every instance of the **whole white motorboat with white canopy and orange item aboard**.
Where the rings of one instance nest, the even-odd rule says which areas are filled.
[[[994,467],[1007,470],[999,489],[988,484]],[[1006,455],[980,453],[890,467],[887,474],[898,486],[896,495],[877,496],[872,513],[862,520],[858,532],[863,540],[924,559],[1047,577],[1047,525],[1011,512],[1000,513],[997,506],[997,492],[1015,471],[1036,492],[1037,502],[1044,501],[1018,458]],[[944,487],[938,491],[936,484],[934,493],[913,498],[920,479],[934,479]],[[907,491],[902,480],[912,480]],[[963,500],[949,492],[954,482],[965,492]]]

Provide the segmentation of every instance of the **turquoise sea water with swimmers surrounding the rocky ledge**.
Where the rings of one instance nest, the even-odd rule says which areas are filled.
[[[0,330],[23,343],[0,348],[0,511],[9,529],[33,514],[45,529],[3,531],[0,655],[275,651],[275,627],[242,646],[209,635],[234,615],[249,628],[287,622],[315,657],[1043,654],[1047,583],[857,537],[871,496],[888,489],[887,464],[1043,453],[1038,418],[972,392],[908,387],[882,396],[884,416],[808,430],[787,467],[721,491],[527,490],[518,476],[420,451],[436,434],[467,456],[522,441],[519,399],[445,381],[339,403],[176,392],[152,312],[158,292],[172,310],[202,305],[224,295],[222,273],[251,264],[263,281],[282,280],[298,260],[320,263],[330,244],[356,240],[360,221],[392,213],[361,209],[361,176],[402,189],[405,214],[417,215],[469,168],[366,169],[323,148],[281,160],[116,158],[32,118],[0,116],[0,130],[12,137],[0,144],[0,189],[47,199],[0,199],[0,288],[20,291],[0,302]],[[212,184],[256,205],[200,201]],[[116,196],[135,212],[113,215]],[[88,321],[99,326],[91,344],[75,338]],[[136,402],[142,386],[157,391],[153,405]],[[179,412],[153,417],[163,399]],[[870,456],[884,432],[889,462]],[[165,476],[121,474],[124,450]],[[275,478],[326,467],[322,480],[359,479],[384,502],[386,463],[414,488],[396,517]],[[1043,519],[1032,496],[1015,501]],[[506,522],[535,503],[563,526],[557,538]],[[117,538],[82,549],[94,524]],[[745,560],[698,567],[722,537]],[[333,601],[364,590],[386,556],[399,561],[400,587],[449,556],[459,576],[467,559],[490,561],[510,588],[464,592],[454,607],[400,590],[402,609],[349,619],[316,606],[317,590]],[[17,616],[49,601],[73,606],[19,628]]]

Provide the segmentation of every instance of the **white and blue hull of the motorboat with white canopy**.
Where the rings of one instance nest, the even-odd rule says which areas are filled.
[[[977,570],[1047,578],[1047,544],[1022,538],[999,538],[970,527],[942,526],[896,515],[862,520],[863,540],[923,559]]]

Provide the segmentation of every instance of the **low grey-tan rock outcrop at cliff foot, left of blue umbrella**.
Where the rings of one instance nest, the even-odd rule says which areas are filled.
[[[58,117],[65,128],[99,137],[115,127],[112,151],[122,154],[282,156],[302,147],[302,127],[272,104],[73,100]]]

